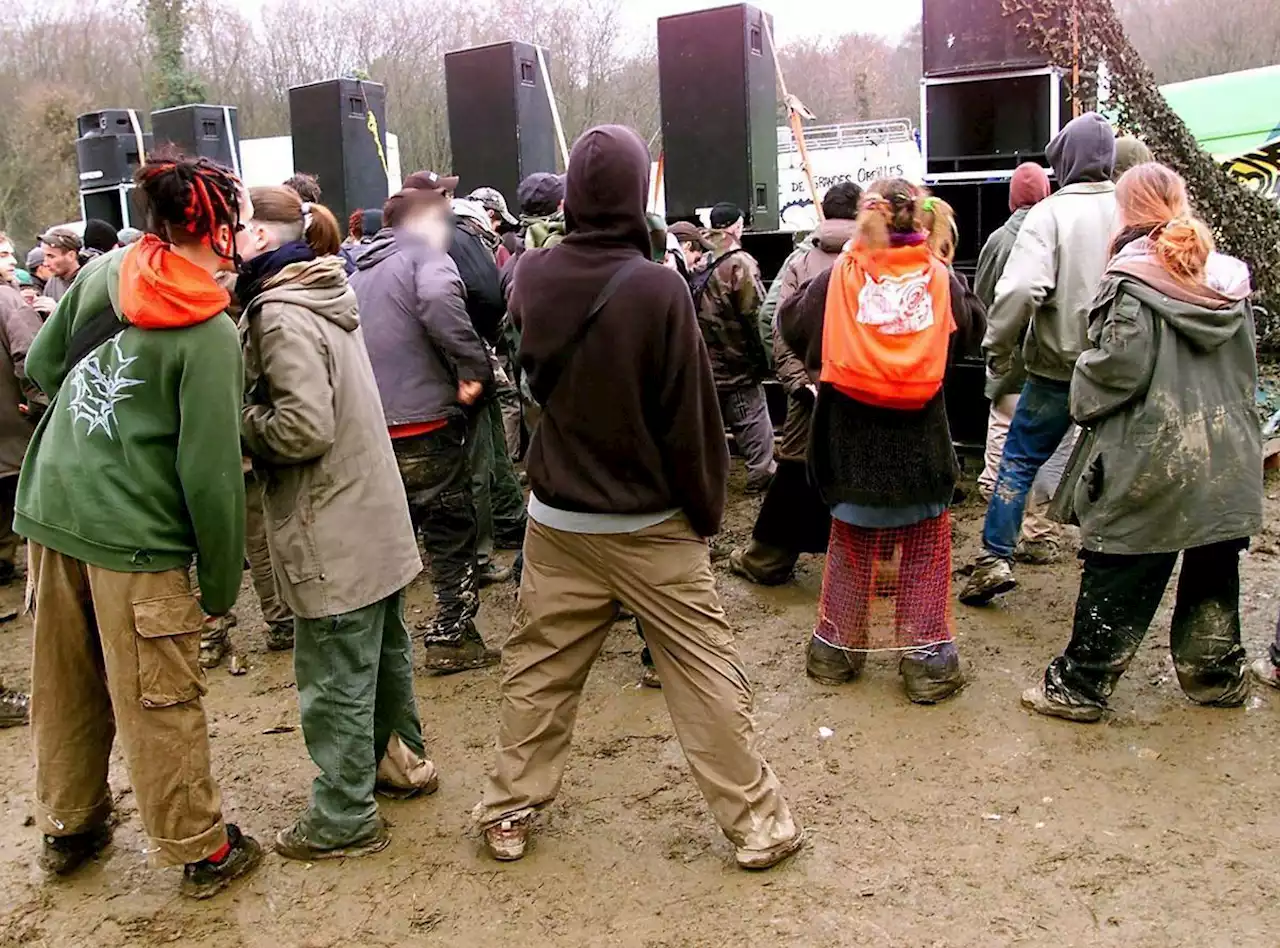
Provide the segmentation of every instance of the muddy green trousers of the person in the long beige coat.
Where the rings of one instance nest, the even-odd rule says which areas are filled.
[[[342,615],[296,618],[293,673],[302,737],[320,768],[303,835],[329,849],[367,839],[376,830],[378,761],[392,734],[422,756],[403,590]]]

